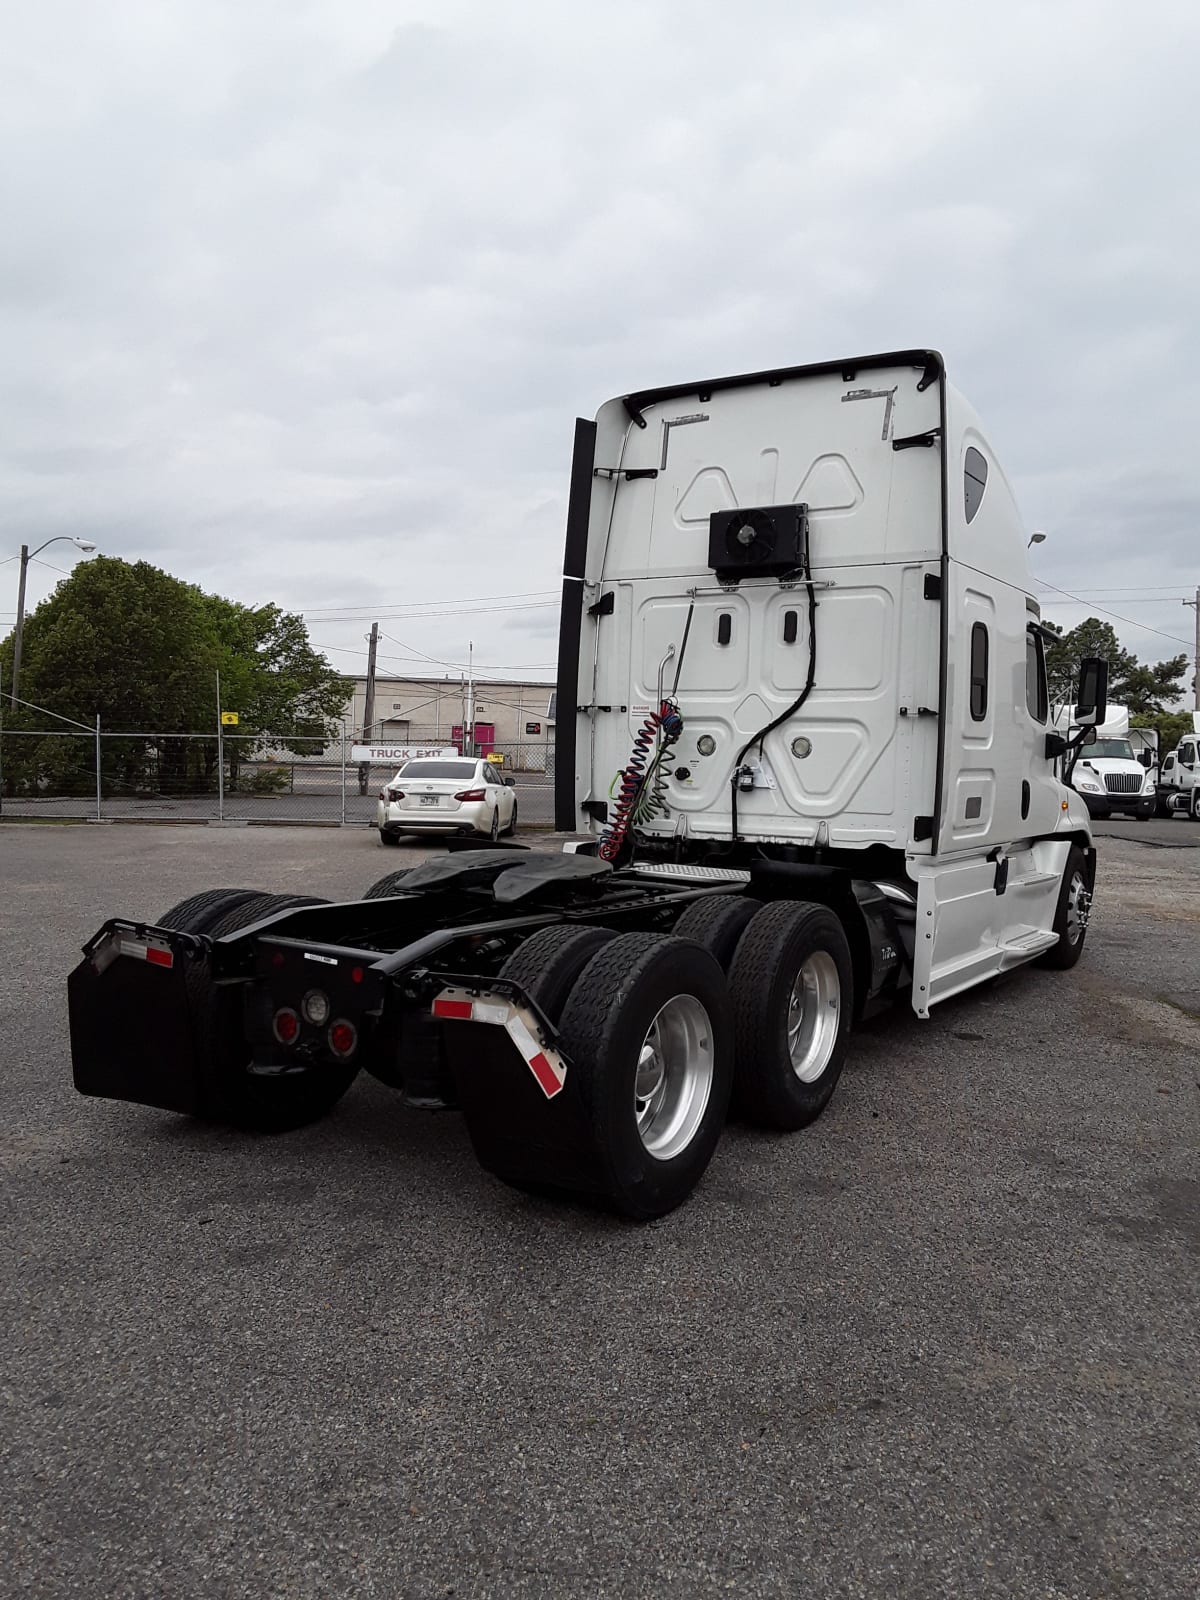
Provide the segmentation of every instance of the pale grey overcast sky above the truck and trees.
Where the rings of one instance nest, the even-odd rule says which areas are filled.
[[[378,614],[384,669],[549,677],[576,414],[928,344],[1038,574],[1187,648],[1195,0],[0,18],[0,562],[77,534],[346,670]]]

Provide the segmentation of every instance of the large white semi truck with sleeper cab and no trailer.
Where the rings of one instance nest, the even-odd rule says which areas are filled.
[[[502,1181],[653,1218],[731,1104],[811,1123],[862,1018],[1078,960],[1096,858],[1026,530],[936,352],[578,422],[558,661],[570,851],[112,918],[70,976],[77,1088],[285,1130],[365,1067],[461,1107]],[[1083,664],[1080,739],[1106,683]]]

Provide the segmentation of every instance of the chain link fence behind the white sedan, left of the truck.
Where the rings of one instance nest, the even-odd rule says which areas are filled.
[[[357,765],[354,742],[346,725],[331,739],[0,726],[0,818],[374,826],[395,766]],[[410,730],[406,739],[434,742],[448,744],[432,728]],[[554,824],[552,738],[496,741],[474,754],[515,781],[523,827]]]

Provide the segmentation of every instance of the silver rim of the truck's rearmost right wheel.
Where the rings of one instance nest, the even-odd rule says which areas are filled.
[[[691,1144],[712,1094],[712,1022],[694,995],[675,995],[637,1053],[634,1115],[642,1144],[669,1162]]]

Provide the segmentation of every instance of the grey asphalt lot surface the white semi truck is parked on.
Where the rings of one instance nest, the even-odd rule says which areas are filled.
[[[1200,851],[1101,848],[1074,973],[874,1024],[630,1227],[373,1080],[275,1141],[74,1094],[106,915],[418,851],[0,826],[3,1590],[1200,1592]]]

